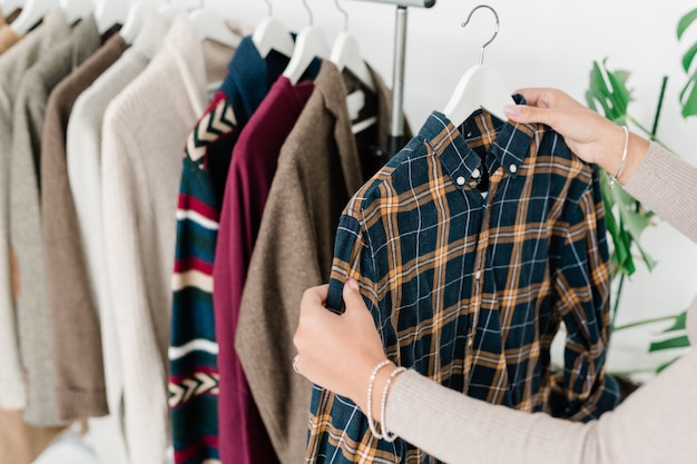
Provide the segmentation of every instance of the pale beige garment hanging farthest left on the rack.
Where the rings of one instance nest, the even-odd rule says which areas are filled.
[[[0,57],[0,155],[4,166],[12,161],[12,117],[17,92],[27,70],[33,66],[48,50],[70,33],[70,27],[62,12],[57,9],[49,13],[39,28],[27,34],[17,46]],[[27,384],[23,362],[32,359],[32,347],[36,342],[31,333],[22,333],[22,354],[20,356],[20,337],[18,315],[16,313],[12,290],[12,272],[10,267],[11,251],[9,247],[9,169],[0,172],[0,406],[9,409],[23,409],[27,406]],[[26,322],[26,327],[29,322]],[[27,338],[29,337],[29,338]],[[39,340],[43,344],[43,340]]]

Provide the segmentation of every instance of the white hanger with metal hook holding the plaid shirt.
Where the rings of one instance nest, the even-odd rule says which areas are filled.
[[[499,14],[497,14],[493,8],[480,4],[470,12],[462,27],[470,22],[472,13],[480,8],[488,8],[493,12],[497,18],[497,29],[493,37],[482,46],[479,66],[468,69],[462,76],[443,110],[443,113],[454,126],[460,126],[472,112],[480,108],[484,108],[499,119],[507,120],[503,108],[507,105],[516,105],[499,72],[483,63],[484,49],[499,33]]]

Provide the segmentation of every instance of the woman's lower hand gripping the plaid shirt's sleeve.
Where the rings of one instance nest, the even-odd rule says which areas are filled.
[[[359,293],[359,284],[350,279],[344,285],[346,310],[342,315],[324,307],[327,292],[328,285],[322,285],[303,294],[293,338],[298,355],[296,367],[311,382],[351,398],[365,412],[369,377],[386,355],[373,316]],[[387,367],[381,371],[374,393],[382,392],[379,385],[383,385],[390,372]]]

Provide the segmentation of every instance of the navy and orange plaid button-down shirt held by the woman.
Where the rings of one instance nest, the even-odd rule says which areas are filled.
[[[463,132],[467,141],[433,112],[353,197],[327,307],[341,308],[353,277],[397,365],[489,403],[598,417],[618,389],[603,368],[609,270],[596,170],[541,125],[478,111]],[[553,377],[562,320],[565,368]],[[311,412],[310,462],[435,462],[375,440],[357,406],[328,391],[313,388]]]

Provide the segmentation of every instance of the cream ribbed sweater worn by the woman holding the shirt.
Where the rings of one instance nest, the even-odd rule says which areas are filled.
[[[626,189],[697,241],[697,168],[651,145]],[[688,317],[697,343],[697,299]],[[395,381],[387,428],[451,463],[680,464],[697,462],[697,352],[589,424],[492,406],[410,371]]]

